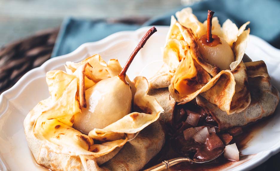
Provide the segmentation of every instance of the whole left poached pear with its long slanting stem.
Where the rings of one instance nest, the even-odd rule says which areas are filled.
[[[126,81],[126,72],[136,54],[157,30],[152,27],[134,49],[119,75],[105,78],[86,90],[87,107],[76,114],[74,127],[88,134],[95,128],[102,129],[131,112],[132,92]]]

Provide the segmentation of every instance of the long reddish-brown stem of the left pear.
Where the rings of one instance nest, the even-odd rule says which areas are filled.
[[[150,30],[147,31],[147,33],[142,37],[142,39],[140,40],[140,42],[138,43],[138,45],[136,46],[136,48],[133,50],[132,54],[130,55],[130,57],[128,58],[127,62],[124,65],[124,68],[121,70],[121,73],[118,75],[118,77],[124,82],[127,83],[125,80],[125,76],[126,76],[126,72],[128,67],[130,66],[131,62],[133,61],[134,57],[136,56],[136,54],[139,52],[139,50],[141,48],[143,48],[143,46],[145,45],[145,43],[147,42],[147,40],[150,38],[150,36],[152,36],[153,33],[155,33],[157,30],[156,28],[153,26],[152,28],[150,28]]]

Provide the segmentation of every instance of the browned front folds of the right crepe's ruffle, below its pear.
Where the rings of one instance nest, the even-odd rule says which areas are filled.
[[[250,96],[248,84],[246,84],[246,68],[243,62],[240,61],[238,66],[232,71],[223,70],[216,74],[215,68],[208,67],[210,64],[206,65],[206,62],[197,62],[202,60],[202,58],[200,57],[201,55],[199,54],[192,31],[189,28],[184,28],[179,23],[176,24],[180,28],[181,33],[183,33],[182,35],[190,49],[180,61],[171,79],[171,84],[169,85],[171,96],[179,104],[184,104],[204,92],[202,95],[207,100],[216,104],[221,110],[226,111],[227,114],[245,109],[250,103]],[[240,44],[235,45],[239,46]],[[214,75],[214,77],[211,78],[211,75]],[[240,92],[241,90],[243,91]],[[233,98],[234,95],[235,97]],[[244,106],[236,105],[236,102],[240,103],[241,100]]]

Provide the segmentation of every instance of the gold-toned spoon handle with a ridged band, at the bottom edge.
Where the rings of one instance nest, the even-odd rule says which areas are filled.
[[[163,170],[163,169],[168,169],[169,167],[178,164],[182,161],[191,161],[191,159],[189,158],[185,158],[185,157],[178,157],[178,158],[173,158],[170,160],[165,160],[155,166],[152,166],[148,169],[145,169],[143,171],[159,171],[159,170]]]

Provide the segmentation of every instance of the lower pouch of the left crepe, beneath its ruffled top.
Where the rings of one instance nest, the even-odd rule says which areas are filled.
[[[99,158],[56,153],[32,134],[32,125],[25,122],[25,135],[37,163],[51,170],[105,171],[139,170],[157,154],[165,141],[162,124],[156,121],[143,129],[135,139]],[[145,149],[145,150],[143,150]],[[116,155],[117,154],[117,155]],[[138,156],[137,158],[135,156]]]

